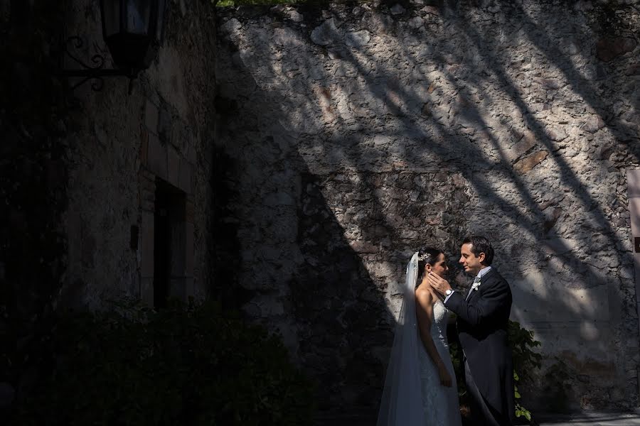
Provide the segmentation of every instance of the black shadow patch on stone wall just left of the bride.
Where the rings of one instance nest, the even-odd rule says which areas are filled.
[[[375,349],[393,339],[383,297],[324,199],[321,177],[302,173],[299,248],[303,262],[289,283],[299,327],[299,355],[318,381],[320,410],[375,408],[383,368]],[[363,384],[370,391],[362,392]],[[345,399],[348,395],[349,399]]]

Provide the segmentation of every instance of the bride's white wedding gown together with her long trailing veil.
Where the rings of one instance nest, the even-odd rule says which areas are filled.
[[[449,345],[447,308],[433,307],[431,336],[452,377],[452,387],[440,384],[437,368],[420,339],[415,315],[418,253],[407,266],[404,299],[380,400],[377,426],[461,426],[458,393]]]

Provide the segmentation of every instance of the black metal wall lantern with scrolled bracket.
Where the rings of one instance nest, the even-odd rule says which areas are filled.
[[[100,91],[104,77],[129,77],[129,94],[133,80],[139,72],[151,65],[158,52],[163,33],[166,0],[100,0],[102,38],[104,38],[114,68],[105,68],[105,57],[96,54],[90,63],[80,60],[72,50],[84,46],[78,35],[67,38],[63,44],[63,59],[70,58],[79,65],[76,69],[62,69],[65,77],[83,77],[71,90],[93,80],[91,87]]]

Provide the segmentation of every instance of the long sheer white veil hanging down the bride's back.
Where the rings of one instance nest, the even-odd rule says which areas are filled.
[[[395,326],[377,426],[425,426],[418,360],[421,342],[415,317],[417,274],[418,253],[415,253],[407,265],[402,309]]]

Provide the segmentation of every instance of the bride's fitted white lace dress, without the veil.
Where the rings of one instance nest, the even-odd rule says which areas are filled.
[[[422,407],[425,410],[425,419],[427,419],[425,426],[462,426],[456,376],[449,355],[449,342],[447,342],[448,313],[449,311],[441,301],[438,300],[433,305],[431,338],[452,377],[453,384],[450,388],[440,384],[437,368],[427,354],[425,346],[418,345]],[[422,343],[422,340],[419,342]]]

